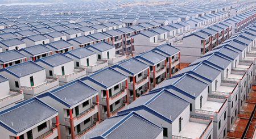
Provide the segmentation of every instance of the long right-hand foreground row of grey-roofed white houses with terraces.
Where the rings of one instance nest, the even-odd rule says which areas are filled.
[[[255,84],[255,28],[244,28],[80,138],[226,138]],[[229,45],[239,37],[244,40]]]

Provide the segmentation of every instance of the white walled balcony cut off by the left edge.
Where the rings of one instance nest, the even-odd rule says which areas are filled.
[[[10,94],[0,99],[0,109],[24,100],[23,91],[10,90]]]

